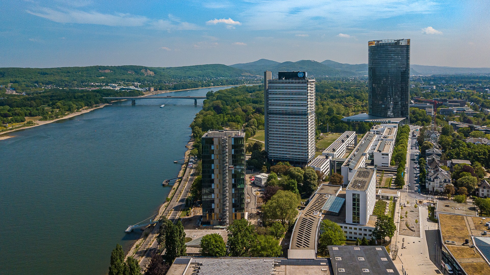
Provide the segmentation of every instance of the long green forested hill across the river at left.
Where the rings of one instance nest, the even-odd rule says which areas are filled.
[[[222,64],[195,65],[185,67],[144,67],[144,66],[90,66],[63,68],[0,68],[0,85],[13,83],[13,88],[23,92],[23,88],[54,85],[64,88],[90,87],[90,83],[137,82],[152,86],[168,87],[172,83],[206,81],[214,79],[256,78],[243,69]],[[215,86],[239,83],[211,81]],[[201,83],[202,84],[202,83]],[[191,85],[192,86],[192,85]],[[196,87],[205,87],[205,85]],[[209,85],[208,85],[209,86]],[[148,86],[145,86],[148,87]],[[178,87],[177,87],[178,88]]]

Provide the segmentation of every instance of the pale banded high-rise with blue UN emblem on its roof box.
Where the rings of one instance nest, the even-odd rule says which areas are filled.
[[[304,71],[280,71],[278,79],[266,81],[267,157],[306,165],[315,157],[315,79]]]

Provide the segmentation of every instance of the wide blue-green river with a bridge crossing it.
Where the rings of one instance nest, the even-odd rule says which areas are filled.
[[[116,244],[138,237],[124,229],[165,201],[200,103],[121,101],[0,140],[0,273],[107,274]]]

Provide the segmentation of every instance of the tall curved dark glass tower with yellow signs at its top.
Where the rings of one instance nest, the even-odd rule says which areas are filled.
[[[369,115],[409,119],[410,39],[368,42]]]

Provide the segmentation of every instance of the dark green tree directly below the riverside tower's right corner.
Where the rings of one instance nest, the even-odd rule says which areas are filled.
[[[256,234],[253,225],[247,220],[235,220],[228,231],[228,254],[232,257],[247,256],[248,252],[256,240]]]

